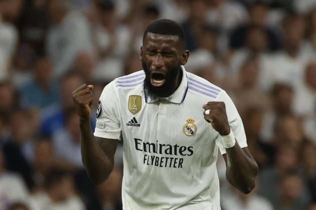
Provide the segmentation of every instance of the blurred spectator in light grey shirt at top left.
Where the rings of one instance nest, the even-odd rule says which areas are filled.
[[[77,54],[92,50],[87,19],[72,9],[72,0],[49,0],[51,26],[47,35],[47,52],[53,61],[53,75],[60,77],[71,70]]]

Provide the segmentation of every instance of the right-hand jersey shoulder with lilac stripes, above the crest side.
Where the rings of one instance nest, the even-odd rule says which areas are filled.
[[[196,93],[210,96],[212,98],[217,98],[217,96],[221,92],[225,92],[219,86],[193,73],[187,72],[187,78],[188,78],[188,89]]]

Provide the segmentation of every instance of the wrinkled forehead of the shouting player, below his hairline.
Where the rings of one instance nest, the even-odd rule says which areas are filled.
[[[179,48],[181,42],[177,35],[163,35],[148,32],[143,41],[143,47]]]

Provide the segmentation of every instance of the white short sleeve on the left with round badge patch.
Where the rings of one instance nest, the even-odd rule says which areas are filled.
[[[114,81],[106,85],[98,101],[94,136],[121,139],[118,98]]]

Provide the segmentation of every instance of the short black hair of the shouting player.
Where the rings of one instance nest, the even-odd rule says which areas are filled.
[[[151,22],[145,29],[142,41],[144,41],[147,33],[156,33],[162,35],[176,35],[182,44],[186,45],[186,33],[181,25],[171,19],[159,19]]]

